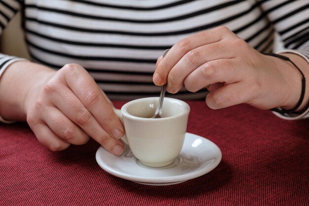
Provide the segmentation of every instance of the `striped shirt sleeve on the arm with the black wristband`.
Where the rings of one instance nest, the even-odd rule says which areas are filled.
[[[260,2],[284,47],[287,48],[277,53],[289,52],[300,55],[307,60],[307,69],[309,69],[309,1],[260,0]],[[306,77],[306,80],[309,81],[309,77]],[[302,114],[279,114],[276,112],[274,114],[288,120],[309,118],[309,108]]]

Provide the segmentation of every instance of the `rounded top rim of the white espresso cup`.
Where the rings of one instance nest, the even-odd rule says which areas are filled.
[[[139,99],[135,99],[135,100],[132,100],[132,101],[129,101],[127,103],[125,103],[120,111],[121,111],[121,114],[123,117],[126,117],[126,118],[130,118],[130,119],[133,119],[133,120],[143,120],[145,121],[145,119],[147,119],[148,121],[162,121],[162,120],[170,120],[170,119],[175,119],[175,118],[178,118],[178,117],[181,117],[181,116],[184,116],[186,114],[189,114],[190,112],[190,106],[189,104],[187,104],[186,102],[184,102],[183,100],[180,100],[180,99],[176,99],[176,98],[170,98],[170,97],[164,97],[163,99],[163,102],[168,100],[168,101],[175,101],[175,102],[178,102],[178,103],[181,103],[182,105],[184,105],[184,111],[182,111],[181,113],[179,113],[178,115],[174,115],[174,116],[171,116],[171,117],[164,117],[164,118],[156,118],[156,119],[152,119],[152,118],[143,118],[143,117],[136,117],[136,116],[133,116],[131,114],[128,113],[127,111],[127,108],[136,103],[136,102],[140,102],[140,101],[144,101],[145,99],[157,99],[159,100],[159,97],[144,97],[144,98],[139,98]]]

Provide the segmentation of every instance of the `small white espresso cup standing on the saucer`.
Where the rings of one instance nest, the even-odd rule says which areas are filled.
[[[115,110],[125,128],[122,140],[140,163],[152,167],[170,165],[179,155],[190,112],[186,102],[165,97],[161,118],[152,119],[157,103],[158,97],[148,97]]]

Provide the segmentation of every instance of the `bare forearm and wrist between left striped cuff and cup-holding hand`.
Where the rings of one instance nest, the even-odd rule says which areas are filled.
[[[32,62],[12,63],[0,79],[0,116],[6,120],[26,121],[26,96],[32,86],[54,74],[52,69]]]

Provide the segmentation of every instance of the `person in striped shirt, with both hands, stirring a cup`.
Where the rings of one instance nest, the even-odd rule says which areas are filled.
[[[213,109],[248,103],[308,117],[308,8],[306,0],[2,0],[1,30],[21,10],[36,62],[0,56],[2,122],[27,121],[51,150],[90,136],[119,155],[124,129],[107,96],[157,96],[154,83],[166,82],[175,98],[205,98],[208,88]],[[260,53],[272,51],[275,31],[289,50]]]

